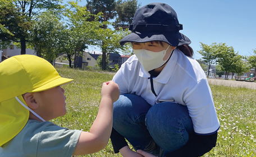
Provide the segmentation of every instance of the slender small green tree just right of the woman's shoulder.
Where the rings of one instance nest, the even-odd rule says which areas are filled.
[[[209,73],[210,73],[210,68],[211,65],[216,63],[216,54],[218,51],[218,47],[219,45],[216,44],[216,42],[212,43],[212,45],[206,45],[203,44],[202,42],[200,42],[200,47],[202,48],[202,50],[199,50],[198,53],[201,54],[203,57],[203,61],[205,61],[205,63],[208,64],[208,75],[207,77],[209,77]]]

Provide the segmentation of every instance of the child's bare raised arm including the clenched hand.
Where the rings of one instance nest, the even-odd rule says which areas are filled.
[[[113,103],[120,95],[118,85],[109,81],[102,85],[98,115],[89,132],[81,132],[73,155],[92,154],[106,147],[112,131]]]

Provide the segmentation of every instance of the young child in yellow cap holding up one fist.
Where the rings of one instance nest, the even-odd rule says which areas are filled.
[[[0,156],[71,156],[105,148],[118,85],[103,83],[98,115],[84,132],[49,122],[66,114],[60,85],[71,81],[38,56],[17,55],[0,63]]]

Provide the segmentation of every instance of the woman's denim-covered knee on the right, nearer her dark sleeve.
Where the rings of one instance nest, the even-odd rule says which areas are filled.
[[[145,125],[157,145],[166,152],[181,148],[188,142],[189,134],[194,132],[188,108],[172,102],[150,108]]]

